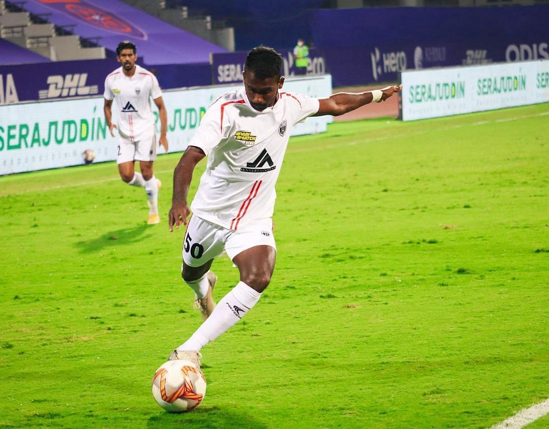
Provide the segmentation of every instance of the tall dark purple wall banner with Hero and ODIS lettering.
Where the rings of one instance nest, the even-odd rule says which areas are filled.
[[[547,5],[497,13],[480,7],[320,9],[311,31],[339,87],[393,82],[410,69],[549,59],[547,26],[532,25],[548,12]],[[386,31],[386,22],[399,25]]]

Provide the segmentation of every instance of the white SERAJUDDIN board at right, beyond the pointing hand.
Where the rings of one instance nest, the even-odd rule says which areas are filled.
[[[549,101],[549,60],[401,72],[404,121]]]

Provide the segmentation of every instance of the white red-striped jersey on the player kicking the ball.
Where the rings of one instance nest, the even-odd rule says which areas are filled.
[[[270,218],[292,128],[318,106],[316,98],[279,91],[275,105],[260,112],[244,88],[215,101],[189,142],[208,155],[193,213],[233,230]]]

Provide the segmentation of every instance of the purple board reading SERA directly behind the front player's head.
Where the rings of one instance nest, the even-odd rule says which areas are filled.
[[[279,49],[282,55],[284,66],[282,74],[284,77],[293,77],[297,75],[294,64],[292,50]],[[244,61],[246,52],[227,52],[221,54],[211,54],[210,63],[212,65],[212,83],[227,84],[241,83],[242,72],[244,70]],[[309,66],[307,66],[307,76],[321,76],[326,74],[326,60],[320,50],[309,50]]]

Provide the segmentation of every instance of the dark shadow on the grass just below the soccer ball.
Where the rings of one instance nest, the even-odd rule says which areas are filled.
[[[246,427],[247,429],[266,429],[265,424],[254,421],[248,414],[235,410],[220,409],[217,407],[204,407],[192,410],[190,413],[170,414],[163,413],[149,417],[147,427],[160,428],[233,428]]]

